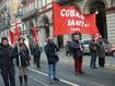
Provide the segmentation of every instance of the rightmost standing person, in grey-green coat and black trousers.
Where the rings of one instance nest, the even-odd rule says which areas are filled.
[[[97,56],[99,56],[99,65],[104,67],[105,65],[105,47],[102,38],[97,39]]]

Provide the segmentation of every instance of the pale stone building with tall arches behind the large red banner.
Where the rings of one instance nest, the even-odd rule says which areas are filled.
[[[83,14],[96,14],[96,25],[103,38],[115,45],[115,0],[20,0],[18,17],[21,20],[20,30],[30,37],[28,30],[36,27],[38,42],[44,46],[47,37],[53,34],[53,2],[60,5],[74,5]],[[88,38],[88,36],[83,36]],[[71,35],[54,37],[55,42],[62,48]]]

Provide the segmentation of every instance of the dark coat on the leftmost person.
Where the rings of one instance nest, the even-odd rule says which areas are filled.
[[[3,47],[0,45],[0,69],[2,67],[12,67],[13,64],[13,57],[12,57],[12,48],[11,46]]]

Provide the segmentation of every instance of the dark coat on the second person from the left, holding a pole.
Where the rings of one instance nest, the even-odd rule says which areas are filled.
[[[16,57],[16,65],[19,66],[19,60],[21,60],[21,66],[27,66],[30,65],[30,51],[28,51],[28,48],[26,47],[26,45],[23,45],[24,46],[24,49],[22,50],[21,49],[21,46],[20,46],[20,52],[18,52],[18,46],[14,47],[13,49],[13,56]],[[19,59],[19,56],[20,56],[20,59]]]

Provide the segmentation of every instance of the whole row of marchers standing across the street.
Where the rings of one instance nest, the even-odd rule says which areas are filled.
[[[30,47],[30,48],[28,48]],[[15,46],[12,48],[9,45],[7,37],[2,37],[0,44],[0,72],[5,86],[15,86],[15,66],[13,64],[13,59],[16,61],[20,86],[28,86],[27,83],[27,66],[30,65],[31,56],[34,57],[34,64],[37,69],[41,69],[41,53],[43,49],[39,47],[38,42],[33,39],[30,40],[28,47],[24,42],[24,38],[19,38]],[[91,51],[91,69],[97,69],[96,57],[99,56],[99,65],[104,67],[105,64],[105,48],[102,38],[95,39],[92,37],[89,48]],[[83,63],[83,45],[80,41],[79,35],[73,35],[72,40],[68,41],[66,45],[66,56],[72,56],[74,60],[74,74],[84,74],[82,71]],[[48,61],[48,79],[49,83],[53,81],[59,81],[57,78],[56,65],[59,61],[58,51],[59,48],[53,41],[53,38],[48,38],[44,47],[47,61]]]

